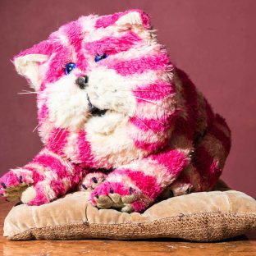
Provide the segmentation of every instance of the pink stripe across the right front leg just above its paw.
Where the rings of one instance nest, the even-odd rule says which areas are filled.
[[[136,185],[141,192],[149,199],[156,199],[161,192],[161,187],[153,176],[144,174],[143,171],[133,171],[130,169],[121,169],[114,171],[121,176],[127,176]]]

